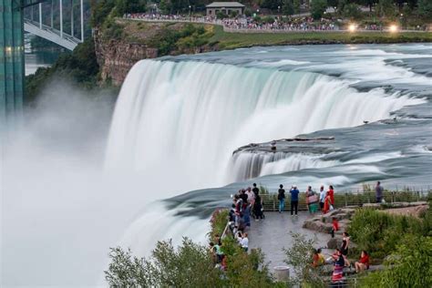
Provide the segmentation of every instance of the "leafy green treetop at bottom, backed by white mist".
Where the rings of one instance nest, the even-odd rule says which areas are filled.
[[[220,271],[208,250],[189,239],[178,249],[171,242],[158,242],[146,260],[111,249],[111,262],[105,271],[110,287],[215,287],[221,285]]]

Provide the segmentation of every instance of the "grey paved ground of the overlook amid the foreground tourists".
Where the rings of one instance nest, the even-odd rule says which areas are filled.
[[[249,249],[261,248],[265,253],[266,261],[270,262],[270,268],[274,266],[286,265],[283,263],[285,255],[283,247],[289,248],[293,243],[290,232],[300,232],[308,238],[316,238],[316,248],[327,246],[330,234],[319,233],[303,229],[303,221],[312,217],[306,211],[299,211],[297,217],[292,217],[290,213],[266,212],[265,219],[253,221],[249,231]]]

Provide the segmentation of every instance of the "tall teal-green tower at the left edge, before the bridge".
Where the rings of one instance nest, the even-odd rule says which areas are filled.
[[[23,108],[25,85],[23,1],[0,0],[0,125]]]

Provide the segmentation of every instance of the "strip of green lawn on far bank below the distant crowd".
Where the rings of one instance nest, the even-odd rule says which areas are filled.
[[[300,45],[300,44],[360,44],[432,42],[432,32],[290,32],[290,33],[226,33],[221,26],[213,27],[211,43],[220,49],[249,46]]]

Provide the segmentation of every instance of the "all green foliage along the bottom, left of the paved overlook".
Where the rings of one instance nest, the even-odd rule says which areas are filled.
[[[105,279],[111,287],[274,287],[261,251],[248,254],[232,238],[225,240],[226,272],[215,267],[207,248],[184,238],[177,249],[158,242],[149,259],[112,248]]]

